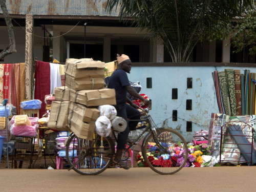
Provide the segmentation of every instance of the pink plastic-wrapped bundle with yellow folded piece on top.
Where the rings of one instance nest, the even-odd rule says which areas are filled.
[[[10,132],[14,136],[36,137],[39,127],[38,117],[15,115],[9,122]]]

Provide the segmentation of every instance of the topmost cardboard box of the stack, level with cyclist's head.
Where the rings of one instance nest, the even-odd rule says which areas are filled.
[[[92,59],[66,59],[66,75],[77,78],[104,77],[105,63]]]

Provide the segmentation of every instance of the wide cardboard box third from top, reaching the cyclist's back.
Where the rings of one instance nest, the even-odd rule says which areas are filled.
[[[86,106],[99,106],[103,104],[116,104],[115,89],[81,90],[70,89],[70,100]]]

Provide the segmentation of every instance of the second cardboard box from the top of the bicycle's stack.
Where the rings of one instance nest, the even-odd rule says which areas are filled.
[[[95,90],[105,87],[104,77],[84,77],[75,79],[70,75],[66,75],[66,86],[75,91],[79,90]]]

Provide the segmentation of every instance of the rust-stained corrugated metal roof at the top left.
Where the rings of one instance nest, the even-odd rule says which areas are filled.
[[[10,14],[118,16],[105,11],[107,0],[6,0]],[[0,9],[0,13],[3,13]]]

